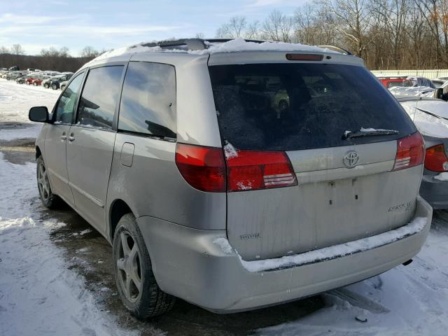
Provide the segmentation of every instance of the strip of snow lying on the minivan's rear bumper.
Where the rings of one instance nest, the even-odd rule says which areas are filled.
[[[345,244],[319,248],[318,250],[314,251],[299,253],[295,255],[285,255],[281,258],[246,261],[241,258],[241,255],[239,255],[237,250],[235,250],[235,253],[237,253],[243,267],[247,269],[249,272],[264,272],[271,269],[295,267],[300,265],[306,265],[311,262],[331,260],[343,257],[344,255],[350,255],[353,253],[367,251],[372,248],[377,248],[379,246],[390,244],[393,241],[397,241],[398,239],[414,235],[417,232],[423,230],[425,226],[426,226],[426,218],[417,217],[414,218],[414,220],[412,220],[407,225],[402,226],[401,228],[384,232],[379,235],[366,237],[355,241],[349,241]],[[225,239],[227,242],[224,242],[223,239],[225,238],[219,238],[219,245],[221,246],[221,249],[225,253],[231,253],[232,246],[230,246],[227,239]]]

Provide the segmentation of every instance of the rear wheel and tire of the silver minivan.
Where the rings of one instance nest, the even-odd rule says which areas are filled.
[[[137,318],[165,314],[176,298],[155,281],[151,258],[135,217],[126,214],[113,235],[113,272],[125,307]]]

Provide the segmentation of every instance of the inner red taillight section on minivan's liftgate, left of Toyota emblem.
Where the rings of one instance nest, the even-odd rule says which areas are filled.
[[[236,151],[226,158],[228,191],[297,186],[284,152]]]

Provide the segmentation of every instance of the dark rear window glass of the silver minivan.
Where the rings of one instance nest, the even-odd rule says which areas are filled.
[[[386,88],[362,66],[209,66],[223,142],[239,149],[295,151],[388,141],[415,132]],[[344,139],[346,131],[398,134]]]

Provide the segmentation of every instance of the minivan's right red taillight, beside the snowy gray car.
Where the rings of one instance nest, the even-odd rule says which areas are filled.
[[[392,170],[415,167],[423,163],[425,142],[419,132],[397,140],[397,154]]]

